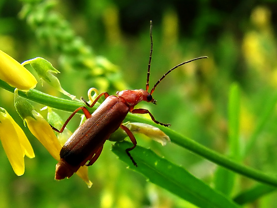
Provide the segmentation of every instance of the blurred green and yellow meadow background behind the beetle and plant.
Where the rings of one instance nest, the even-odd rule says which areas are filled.
[[[149,109],[160,122],[171,123],[176,132],[225,154],[228,92],[230,84],[237,82],[243,152],[267,101],[276,96],[276,0],[0,0],[0,49],[19,62],[48,59],[61,72],[58,77],[63,88],[78,98],[87,97],[90,87],[110,95],[124,89],[144,89],[150,20],[154,41],[150,87],[183,61],[209,58],[175,70],[156,88],[157,105],[142,103],[138,107]],[[46,83],[43,87],[39,83],[36,89],[66,98]],[[37,110],[43,107],[32,104]],[[13,94],[0,89],[0,106],[26,130],[36,155],[25,159],[25,174],[17,177],[0,148],[0,208],[193,207],[126,169],[110,151],[109,141],[89,167],[91,189],[76,175],[55,181],[56,161],[23,127],[13,106]],[[64,120],[69,116],[56,112]],[[74,121],[69,123],[71,131],[79,119]],[[245,164],[276,172],[276,123],[275,109],[244,158]],[[141,135],[136,138],[139,145],[212,186],[214,164],[174,144],[162,147]],[[233,195],[253,184],[238,178]],[[276,199],[273,192],[245,207],[275,207]]]

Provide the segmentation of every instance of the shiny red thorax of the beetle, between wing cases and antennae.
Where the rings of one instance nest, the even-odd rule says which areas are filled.
[[[124,98],[124,100],[128,103],[129,106],[135,106],[142,100],[149,102],[147,100],[147,95],[149,95],[149,93],[142,89],[123,90],[123,91],[117,92],[116,95]]]

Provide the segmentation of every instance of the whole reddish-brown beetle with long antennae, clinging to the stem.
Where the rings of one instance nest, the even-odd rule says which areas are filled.
[[[66,177],[69,178],[81,166],[91,166],[100,156],[105,141],[109,139],[110,135],[119,128],[127,133],[133,143],[133,147],[126,149],[126,153],[132,160],[133,164],[137,166],[137,163],[129,152],[137,146],[136,138],[127,127],[122,125],[122,121],[129,112],[149,114],[151,119],[156,124],[170,126],[170,124],[158,122],[152,113],[150,113],[147,109],[134,109],[134,107],[141,101],[156,104],[156,100],[153,98],[152,94],[155,91],[156,86],[161,82],[162,79],[165,78],[165,76],[181,65],[207,57],[197,57],[176,65],[156,82],[149,93],[150,65],[153,53],[152,21],[150,21],[150,39],[151,48],[145,90],[123,90],[121,92],[117,92],[116,95],[109,95],[107,92],[104,92],[98,95],[91,105],[81,98],[83,102],[85,102],[85,104],[90,108],[93,107],[98,99],[103,95],[105,100],[92,114],[89,113],[85,106],[77,108],[66,120],[61,130],[57,130],[56,128],[52,127],[52,129],[56,132],[63,132],[69,120],[80,110],[84,112],[87,118],[87,120],[77,128],[77,130],[70,136],[70,138],[62,147],[60,151],[60,161],[56,165],[56,180],[61,180]]]

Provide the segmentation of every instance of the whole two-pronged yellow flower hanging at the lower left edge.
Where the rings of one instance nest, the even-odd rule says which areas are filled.
[[[23,175],[24,156],[33,158],[35,153],[23,130],[3,108],[0,108],[0,140],[13,170]]]

